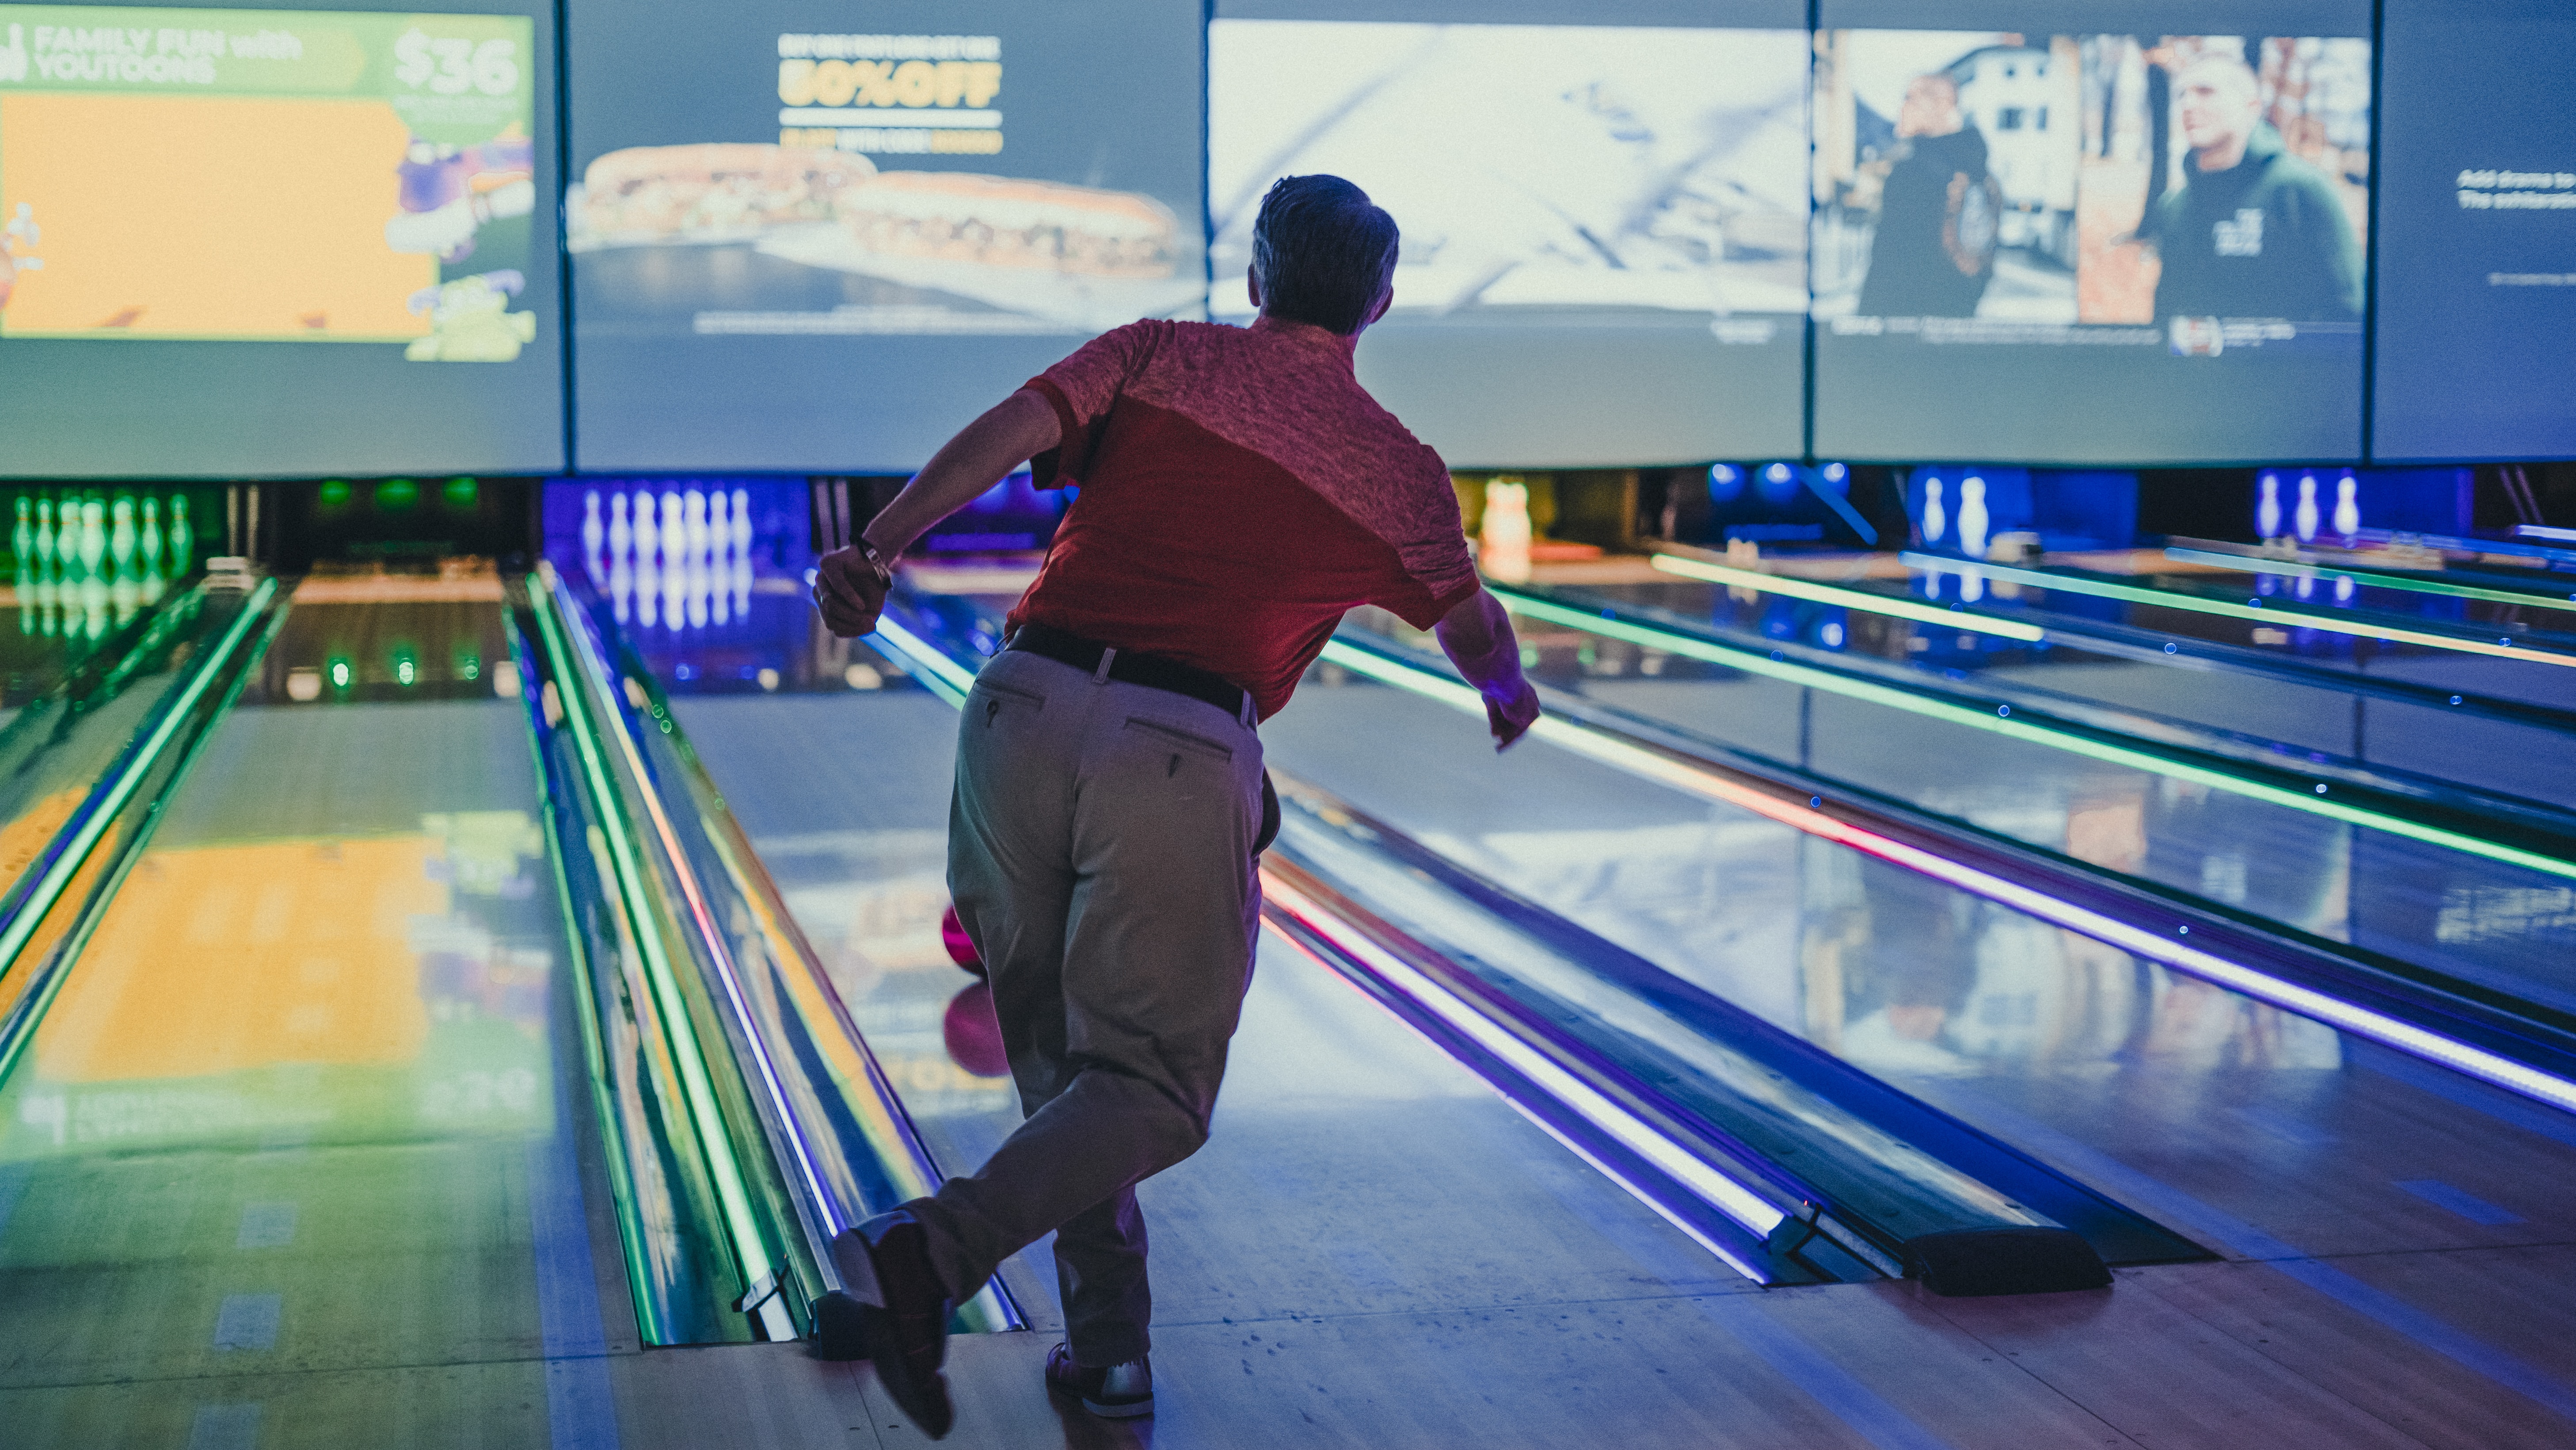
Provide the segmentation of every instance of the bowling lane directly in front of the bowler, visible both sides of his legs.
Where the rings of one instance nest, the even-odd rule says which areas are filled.
[[[667,631],[631,639],[665,683],[706,657]],[[938,930],[956,711],[866,649],[853,662],[881,685],[680,693],[672,713],[940,1167],[969,1172],[1020,1113],[989,999]],[[1141,1198],[1162,1329],[1752,1288],[1267,932],[1216,1133]],[[1041,1329],[1061,1326],[1043,1244],[1002,1275]]]

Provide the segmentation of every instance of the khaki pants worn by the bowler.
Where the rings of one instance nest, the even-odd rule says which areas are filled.
[[[1260,827],[1247,719],[1018,649],[966,698],[948,889],[1028,1120],[909,1208],[956,1298],[1054,1229],[1082,1365],[1149,1347],[1136,1182],[1208,1141],[1252,979]]]

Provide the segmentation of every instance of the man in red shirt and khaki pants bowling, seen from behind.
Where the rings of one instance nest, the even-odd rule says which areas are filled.
[[[1136,1182],[1208,1138],[1278,822],[1255,724],[1342,613],[1432,628],[1497,749],[1538,719],[1448,469],[1352,376],[1394,265],[1396,221],[1358,185],[1280,180],[1252,227],[1252,327],[1084,343],[822,561],[822,618],[858,636],[886,561],[1023,458],[1038,487],[1082,487],[966,695],[948,809],[948,886],[1028,1120],[974,1174],[835,1239],[850,1293],[817,1303],[819,1350],[873,1357],[930,1435],[951,1422],[951,1303],[1048,1231],[1066,1324],[1048,1388],[1151,1414]]]

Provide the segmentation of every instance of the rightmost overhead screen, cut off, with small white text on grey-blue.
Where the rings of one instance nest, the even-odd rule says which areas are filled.
[[[2388,0],[2372,453],[2576,456],[2566,0]]]

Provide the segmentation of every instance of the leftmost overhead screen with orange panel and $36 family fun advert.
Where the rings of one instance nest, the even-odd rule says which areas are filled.
[[[551,5],[0,5],[0,474],[564,464]]]

